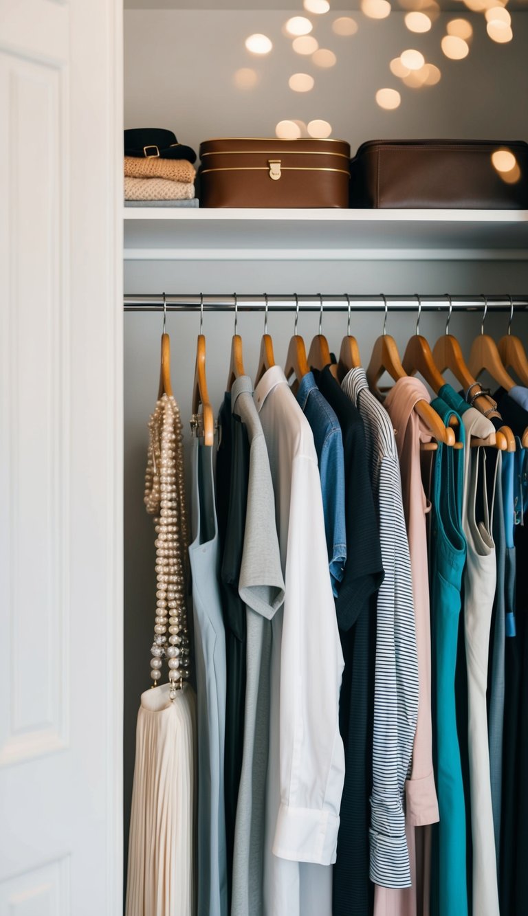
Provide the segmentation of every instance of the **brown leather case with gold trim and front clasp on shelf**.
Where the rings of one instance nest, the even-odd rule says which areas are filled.
[[[200,145],[202,207],[347,207],[343,140],[233,137]]]

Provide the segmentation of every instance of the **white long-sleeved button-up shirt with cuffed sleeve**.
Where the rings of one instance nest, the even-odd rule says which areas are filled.
[[[272,624],[265,911],[330,916],[345,778],[338,723],[343,654],[321,483],[313,433],[280,366],[262,377],[255,403],[270,456],[286,587]]]

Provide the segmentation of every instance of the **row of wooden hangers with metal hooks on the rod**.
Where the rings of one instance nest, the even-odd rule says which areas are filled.
[[[297,333],[299,322],[299,298],[295,294],[295,323],[293,335],[286,355],[286,365],[284,373],[286,378],[292,380],[292,387],[295,389],[303,376],[310,371],[310,367],[323,369],[330,365],[330,371],[336,377],[338,382],[342,381],[347,372],[354,367],[361,365],[359,355],[358,341],[350,333],[350,297],[345,294],[348,303],[348,321],[347,334],[343,338],[339,353],[338,362],[332,363],[330,348],[325,335],[322,333],[323,326],[323,297],[319,293],[321,308],[319,312],[319,333],[315,334],[308,355],[304,346],[303,337]],[[411,337],[403,359],[401,360],[397,344],[393,337],[387,333],[388,302],[387,297],[381,294],[381,299],[385,304],[385,316],[383,321],[383,331],[374,344],[369,366],[367,368],[367,378],[370,390],[380,398],[384,398],[385,390],[380,388],[380,378],[387,372],[394,381],[404,376],[414,376],[420,373],[430,387],[438,393],[439,389],[445,384],[443,373],[449,369],[457,378],[458,383],[468,390],[469,387],[478,385],[478,378],[482,372],[486,371],[497,382],[498,385],[509,391],[514,385],[518,384],[509,375],[508,370],[511,368],[520,383],[528,387],[528,357],[524,346],[519,337],[511,333],[513,302],[511,300],[510,321],[508,322],[508,333],[501,337],[499,344],[496,344],[489,334],[484,333],[484,322],[488,311],[488,300],[482,297],[484,303],[484,312],[480,324],[480,333],[473,341],[471,352],[469,354],[468,364],[466,363],[460,344],[453,334],[449,333],[449,322],[453,310],[452,300],[449,295],[446,299],[449,301],[449,312],[446,321],[446,333],[441,336],[431,349],[427,340],[420,332],[420,316],[422,311],[422,300],[416,294],[418,305],[418,315],[416,320],[416,332]],[[233,382],[238,376],[246,375],[243,360],[242,338],[237,333],[237,297],[235,300],[235,329],[231,342],[231,357],[229,363],[229,372],[227,376],[227,390],[230,391]],[[258,385],[261,377],[272,366],[275,365],[273,354],[273,342],[268,333],[268,296],[264,294],[266,302],[264,315],[264,333],[260,343],[259,366],[255,376],[255,386]],[[172,394],[170,384],[170,339],[166,333],[166,302],[163,294],[163,333],[161,336],[161,373],[159,379],[159,397],[166,392]],[[500,417],[494,401],[490,398],[490,392],[483,394],[475,400],[475,406],[487,416]],[[415,411],[424,421],[427,430],[430,432],[435,442],[424,443],[424,448],[433,450],[437,448],[437,442],[444,442],[446,445],[461,447],[457,442],[457,437],[453,425],[446,427],[435,409],[428,401],[419,400],[415,405]],[[457,420],[455,424],[457,425]],[[205,445],[214,443],[214,411],[209,399],[207,380],[205,374],[205,337],[203,335],[203,295],[200,301],[200,333],[196,344],[196,364],[194,370],[194,380],[192,385],[192,426],[201,436]],[[528,429],[523,434],[523,447],[528,447]],[[486,439],[473,437],[471,446],[486,445],[495,447],[501,451],[515,451],[515,437],[509,426],[504,424],[497,432],[490,433]]]

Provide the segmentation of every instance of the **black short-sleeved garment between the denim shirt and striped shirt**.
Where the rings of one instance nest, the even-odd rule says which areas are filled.
[[[370,485],[363,420],[328,366],[314,370],[317,387],[339,420],[345,453],[347,563],[336,598],[345,659],[339,726],[345,745],[345,785],[337,836],[334,916],[369,916],[369,797],[372,791],[372,723],[376,592],[383,581],[380,533]]]

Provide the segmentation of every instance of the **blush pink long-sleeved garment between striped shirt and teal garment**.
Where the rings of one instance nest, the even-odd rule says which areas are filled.
[[[420,443],[431,434],[414,412],[418,400],[430,401],[424,384],[410,376],[400,378],[387,395],[385,407],[395,430],[402,473],[403,511],[409,538],[413,599],[418,649],[420,695],[413,745],[413,768],[405,783],[406,828],[411,862],[412,888],[376,886],[375,913],[391,916],[428,916],[430,899],[431,832],[438,821],[431,724],[431,623],[425,513],[427,501],[422,484]]]

